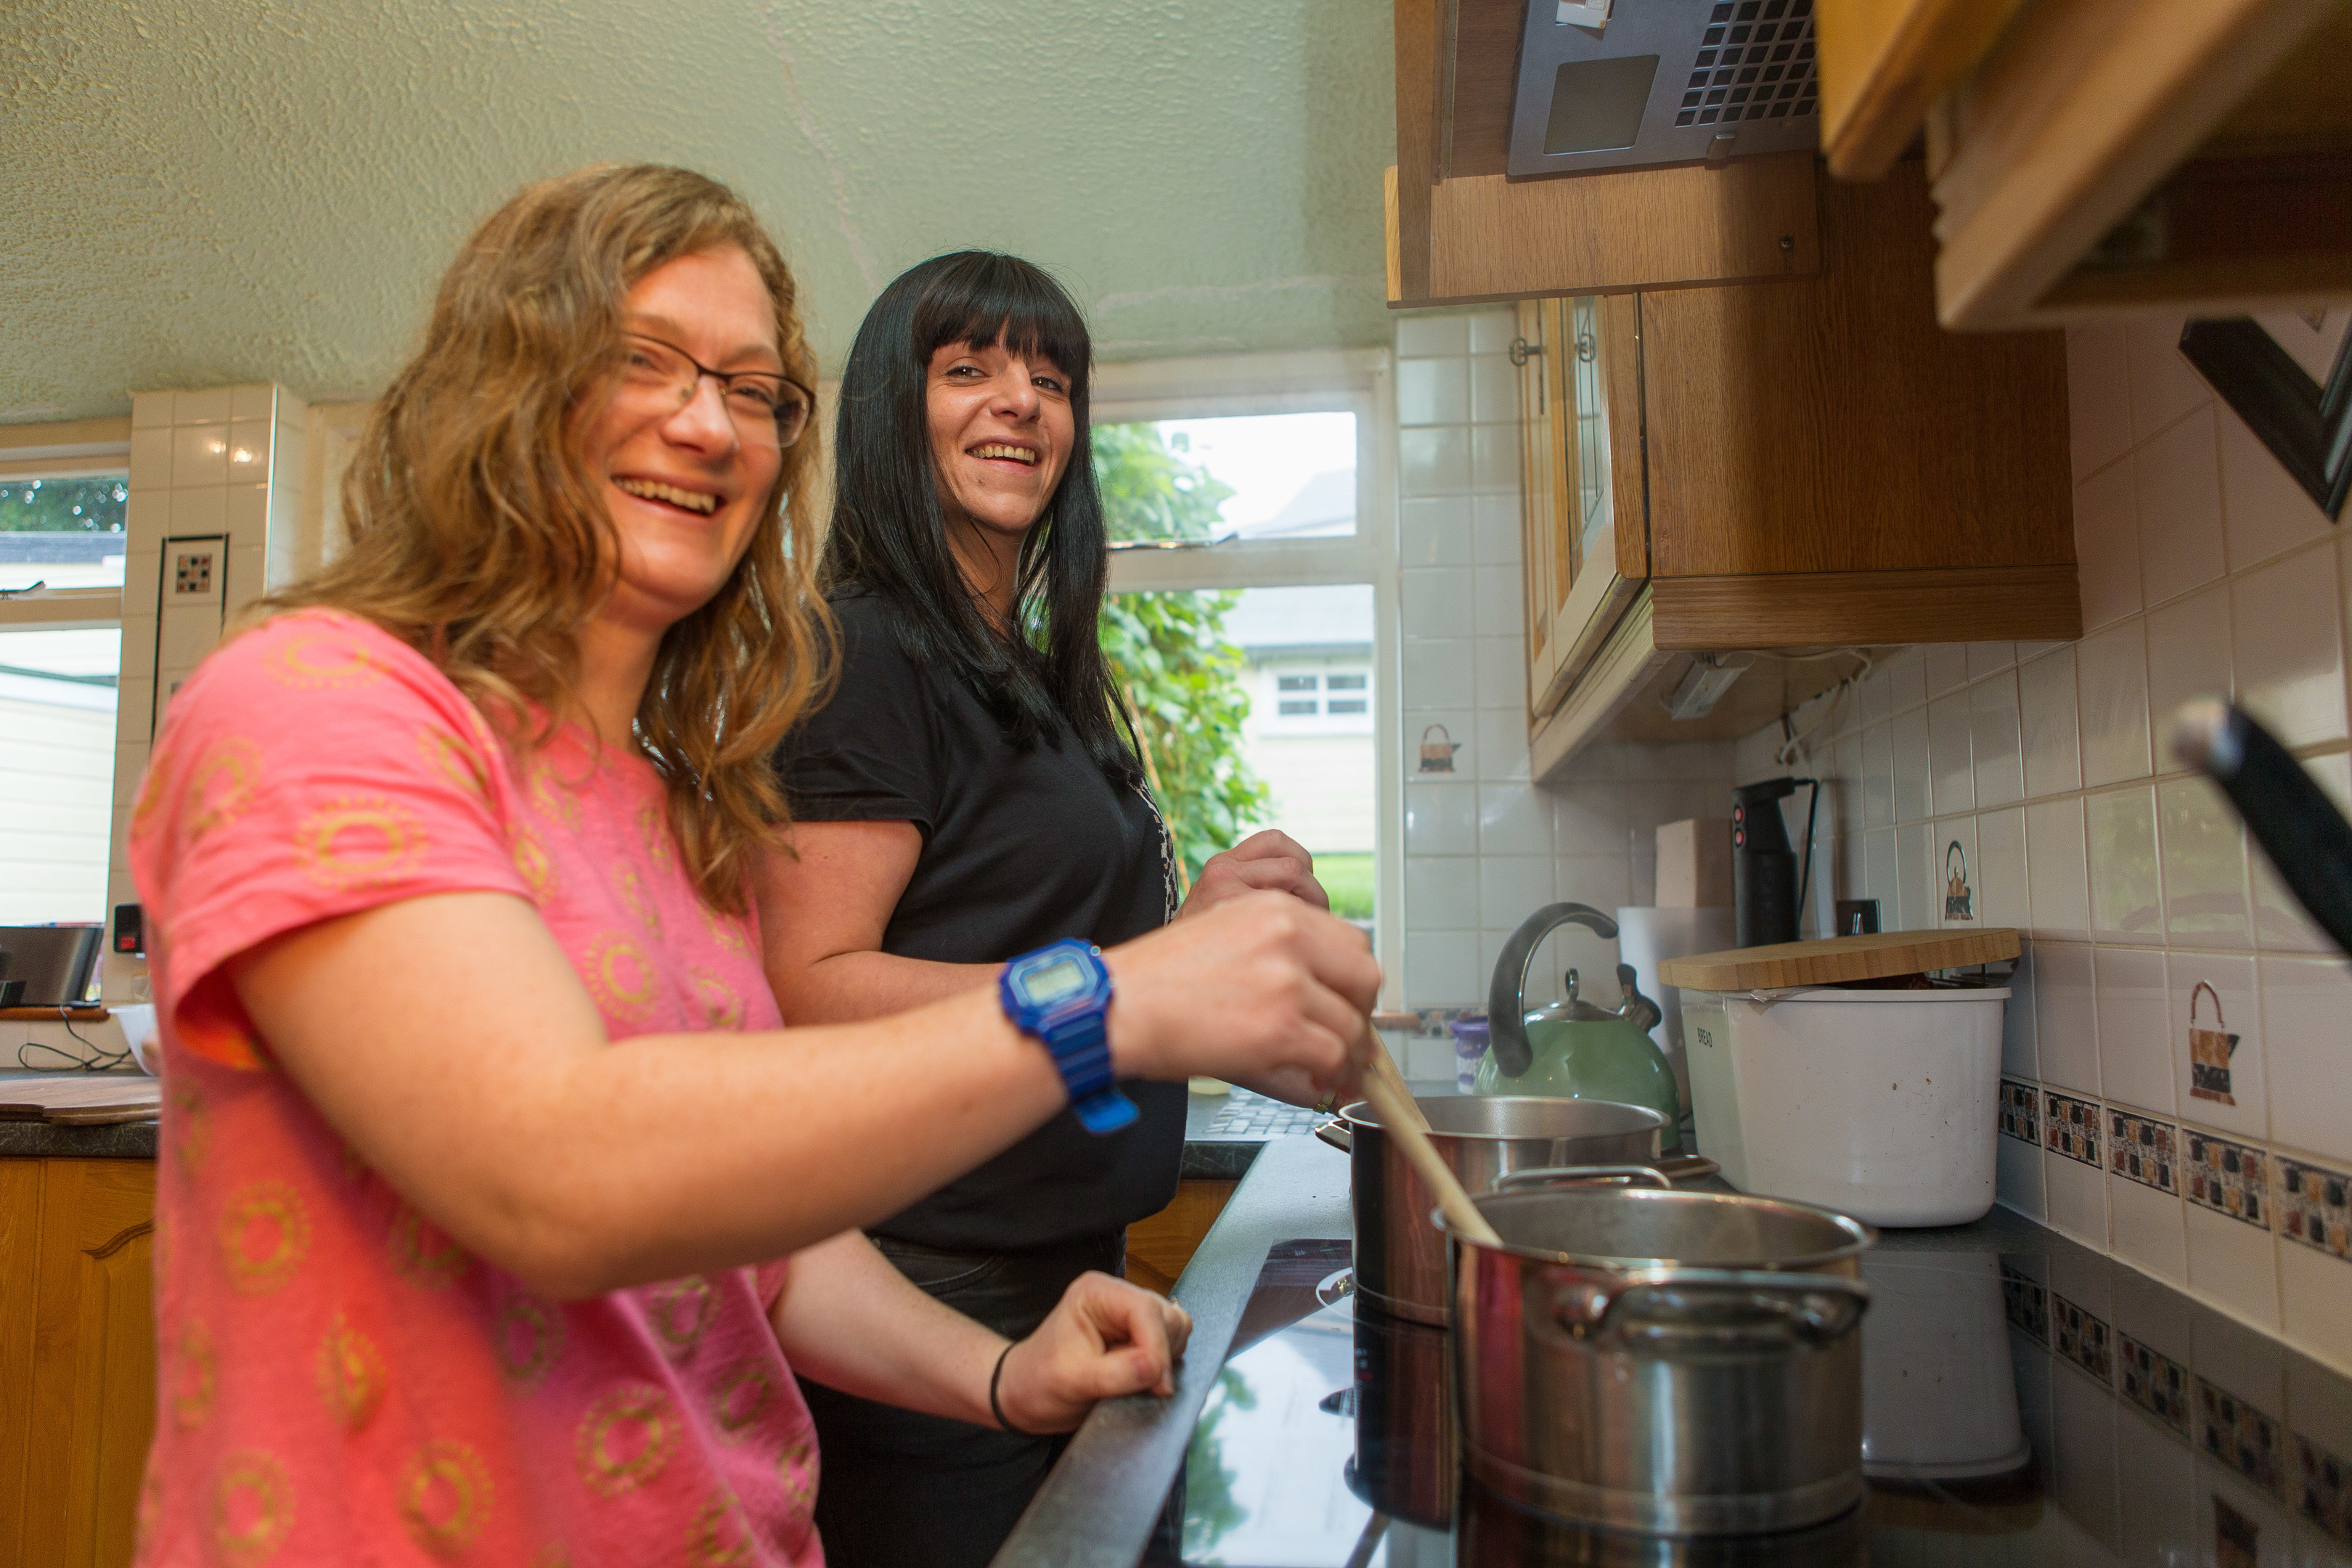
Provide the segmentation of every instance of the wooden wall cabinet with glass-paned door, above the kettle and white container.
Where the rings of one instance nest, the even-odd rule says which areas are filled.
[[[1759,661],[1675,722],[1698,656],[2082,635],[2065,341],[1936,324],[1917,162],[1825,181],[1820,216],[1818,277],[1517,306],[1538,778],[1842,672]]]

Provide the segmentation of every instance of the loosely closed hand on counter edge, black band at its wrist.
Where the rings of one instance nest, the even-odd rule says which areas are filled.
[[[997,1403],[1021,1432],[1070,1432],[1098,1399],[1176,1392],[1192,1314],[1094,1269],[1004,1356]]]

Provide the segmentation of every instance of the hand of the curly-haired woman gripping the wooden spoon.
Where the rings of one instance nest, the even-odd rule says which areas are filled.
[[[1103,954],[1120,1077],[1261,1079],[1282,1067],[1317,1086],[1371,1060],[1381,966],[1355,926],[1287,893],[1244,893]]]

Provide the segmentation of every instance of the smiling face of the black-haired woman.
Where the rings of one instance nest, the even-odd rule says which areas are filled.
[[[1002,343],[948,343],[931,355],[924,386],[948,529],[1028,534],[1054,498],[1077,440],[1070,376]]]

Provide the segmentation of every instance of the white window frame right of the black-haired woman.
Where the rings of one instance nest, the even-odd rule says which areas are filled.
[[[1101,364],[1091,425],[1237,414],[1355,414],[1355,536],[1115,550],[1108,592],[1371,588],[1374,940],[1381,1004],[1404,999],[1404,611],[1395,357],[1385,348],[1202,355]],[[1317,691],[1317,701],[1324,693]]]

